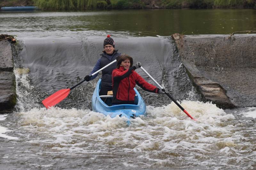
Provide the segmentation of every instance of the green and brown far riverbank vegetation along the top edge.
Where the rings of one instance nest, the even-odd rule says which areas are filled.
[[[1,6],[8,3],[35,5],[42,10],[256,8],[256,0],[0,0]]]

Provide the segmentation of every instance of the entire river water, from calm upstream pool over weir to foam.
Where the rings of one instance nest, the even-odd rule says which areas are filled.
[[[255,10],[0,12],[0,21],[0,33],[19,40],[13,48],[18,104],[0,115],[0,169],[256,169],[256,108],[201,102],[170,38],[255,30]],[[139,88],[147,114],[131,126],[95,113],[98,78],[44,108],[43,99],[92,70],[106,34],[197,121],[167,96]]]

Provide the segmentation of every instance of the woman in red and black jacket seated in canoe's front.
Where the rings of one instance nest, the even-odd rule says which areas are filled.
[[[146,82],[136,71],[141,64],[137,62],[132,66],[133,59],[129,55],[122,54],[117,59],[117,67],[112,72],[113,100],[112,104],[134,104],[135,85],[143,90],[164,94],[162,90]]]

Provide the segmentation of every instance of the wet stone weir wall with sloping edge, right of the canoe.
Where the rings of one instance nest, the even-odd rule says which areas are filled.
[[[256,106],[256,34],[172,34],[189,78],[218,107]]]

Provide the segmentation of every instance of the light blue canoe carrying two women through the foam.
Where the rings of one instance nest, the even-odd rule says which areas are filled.
[[[136,118],[140,115],[144,115],[146,113],[146,105],[144,100],[141,98],[140,93],[134,88],[136,92],[135,96],[135,104],[122,104],[122,105],[115,105],[115,106],[109,106],[111,105],[111,101],[113,96],[106,95],[106,96],[100,96],[100,85],[101,85],[101,79],[98,81],[97,86],[92,94],[92,110],[94,112],[99,112],[104,115],[109,115],[110,117],[114,118],[117,115],[120,117],[125,116],[128,118],[127,123],[130,124],[131,118]],[[100,97],[106,98],[106,103],[101,100]]]

